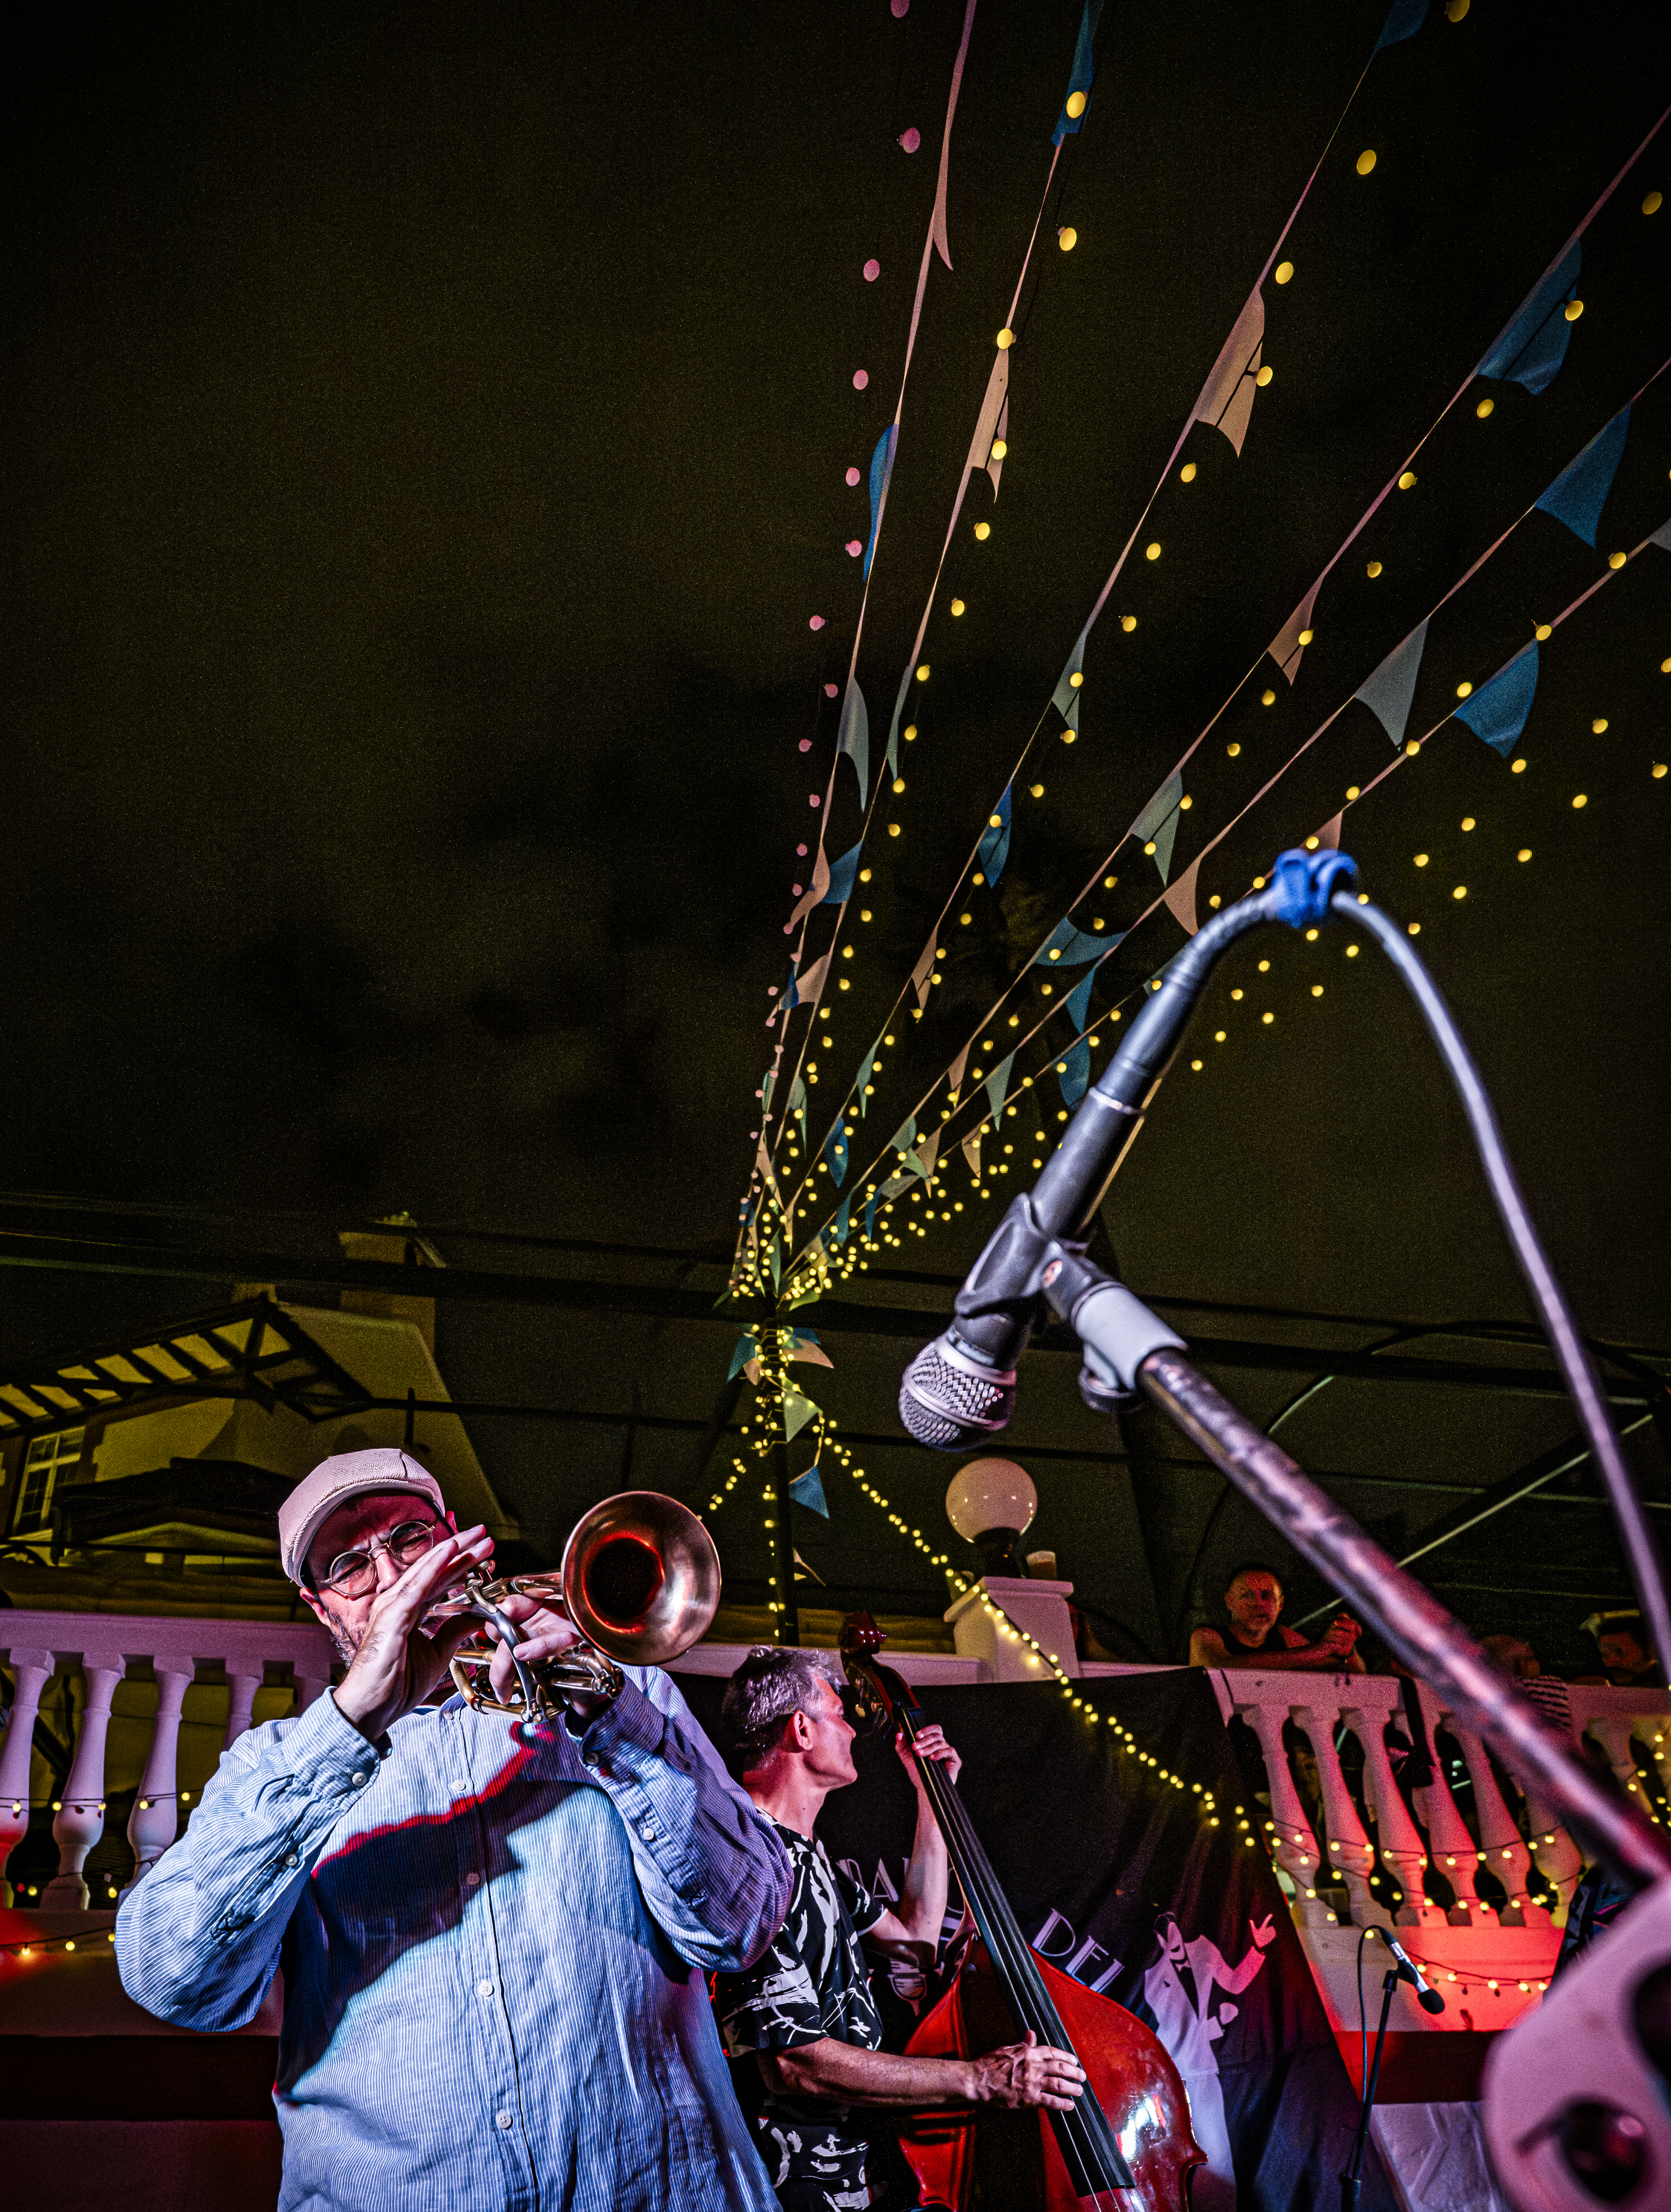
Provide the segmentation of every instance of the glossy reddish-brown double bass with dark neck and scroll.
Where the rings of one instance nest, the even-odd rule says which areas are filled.
[[[860,1728],[897,1728],[915,1743],[928,1725],[911,1686],[877,1666],[884,1635],[849,1615],[840,1650]],[[990,2106],[911,2115],[900,2150],[922,2205],[1034,2205],[1041,2212],[1189,2212],[1189,2174],[1207,2152],[1189,2132],[1189,2099],[1160,2042],[1123,2004],[1041,1958],[1021,1933],[992,1863],[944,1767],[917,1763],[990,1971],[959,1973],[906,2044],[913,2057],[973,2057],[1017,2042],[1072,2051],[1085,2095],[1070,2112]]]

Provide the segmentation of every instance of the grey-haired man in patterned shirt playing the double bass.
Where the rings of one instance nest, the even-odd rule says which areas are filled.
[[[725,2046],[740,2066],[756,2148],[785,2212],[858,2212],[886,2205],[886,2179],[866,2172],[858,2108],[999,2104],[1070,2110],[1085,2075],[1068,2051],[1026,2042],[970,2059],[880,2051],[860,1938],[933,1962],[946,1916],[946,1843],[904,1736],[895,1750],[917,1792],[917,1832],[900,1909],[831,1867],[813,1825],[831,1790],[858,1781],[853,1725],[842,1710],[831,1652],[763,1646],[732,1677],[725,1728],[743,1761],[743,1785],[789,1854],[794,1891],[771,1947],[743,1973],[721,1973],[716,2004]],[[915,1750],[957,1778],[959,1756],[939,1728]],[[749,2079],[754,2073],[758,2079]],[[869,2161],[873,2163],[873,2161]],[[913,2199],[915,2201],[915,2192]]]

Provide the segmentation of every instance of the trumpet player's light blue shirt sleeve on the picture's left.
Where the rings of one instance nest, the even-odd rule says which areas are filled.
[[[117,1911],[122,1986],[159,2020],[241,2028],[278,1969],[285,1924],[380,1752],[320,1697],[239,1736],[186,1834]]]

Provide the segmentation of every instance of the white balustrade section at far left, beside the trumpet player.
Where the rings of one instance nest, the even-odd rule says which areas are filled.
[[[71,1772],[53,1798],[57,1874],[38,1900],[44,1911],[88,1909],[84,1867],[104,1836],[106,1803],[115,1792],[135,1790],[128,1887],[175,1840],[181,1798],[190,1796],[179,1787],[181,1725],[195,1736],[217,1730],[219,1743],[206,1745],[212,1767],[252,1719],[303,1710],[332,1679],[325,1630],[283,1621],[7,1610],[0,1613],[0,1657],[18,1692],[9,1728],[0,1734],[0,1874],[29,1832],[29,1772],[42,1694],[55,1677],[80,1677],[82,1683]],[[281,1670],[290,1681],[270,1686],[270,1672]],[[223,1681],[199,1679],[210,1672]],[[256,1701],[265,1708],[259,1714]],[[208,1712],[190,1712],[192,1703]],[[203,1765],[201,1756],[197,1765]],[[197,1776],[199,1785],[203,1778]]]

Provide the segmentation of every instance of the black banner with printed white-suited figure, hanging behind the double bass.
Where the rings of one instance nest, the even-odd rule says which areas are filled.
[[[725,1683],[685,1674],[681,1688],[721,1743]],[[1211,2161],[1196,2174],[1196,2212],[1333,2212],[1357,2097],[1264,1847],[1244,1840],[1262,1832],[1264,1807],[1247,1796],[1211,1683],[1176,1668],[1081,1690],[1185,1790],[1116,1750],[1114,1730],[1085,1721],[1052,1686],[919,1699],[964,1754],[959,1792],[1028,1940],[1147,2020],[1171,2051]],[[818,1834],[866,1889],[897,1896],[915,1796],[889,1741],[860,1739],[855,1761],[858,1783],[829,1798]],[[1218,1827],[1194,1783],[1218,1798]],[[911,2011],[897,1989],[877,1995],[884,2006],[893,1997],[897,2046]],[[1362,2205],[1397,2205],[1373,2143]]]

